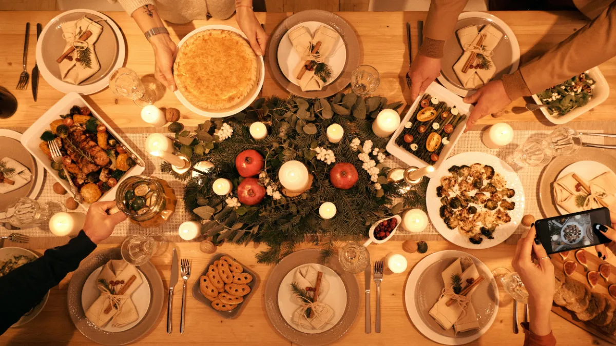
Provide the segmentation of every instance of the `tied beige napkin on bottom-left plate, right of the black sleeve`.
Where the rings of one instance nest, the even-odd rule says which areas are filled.
[[[128,283],[133,275],[136,277],[136,280],[131,284],[128,290],[124,292],[123,296],[112,294],[110,297],[107,289],[99,283],[100,280],[105,280],[107,283],[110,281],[124,280],[124,283]],[[97,287],[101,291],[100,297],[87,309],[86,317],[99,327],[111,323],[111,326],[120,328],[136,321],[139,318],[139,314],[131,300],[131,294],[139,288],[141,283],[141,274],[134,265],[128,264],[124,260],[110,260],[105,264],[97,278]],[[121,285],[115,286],[115,293],[119,292],[121,288]],[[118,308],[113,307],[109,313],[105,313],[105,309],[107,309],[112,298],[117,299]]]

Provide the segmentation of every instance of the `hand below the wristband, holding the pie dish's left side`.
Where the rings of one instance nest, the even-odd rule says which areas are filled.
[[[172,41],[169,34],[158,34],[150,38],[154,50],[154,76],[163,83],[167,89],[176,91],[176,82],[173,79],[173,62],[175,60],[177,44]]]

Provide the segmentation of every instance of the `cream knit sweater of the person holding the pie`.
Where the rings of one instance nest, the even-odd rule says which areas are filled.
[[[171,23],[188,23],[195,19],[206,19],[208,15],[217,19],[227,19],[235,12],[234,0],[109,0],[120,2],[124,10],[132,15],[136,9],[145,5],[156,5],[163,20]]]

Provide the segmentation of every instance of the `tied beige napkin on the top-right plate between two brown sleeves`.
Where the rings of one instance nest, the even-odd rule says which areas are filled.
[[[476,25],[469,25],[458,30],[456,34],[464,52],[453,65],[453,71],[466,89],[479,89],[496,73],[492,50],[500,42],[503,33],[488,24],[480,32]],[[470,58],[472,62],[468,63]],[[468,68],[468,65],[474,68]]]

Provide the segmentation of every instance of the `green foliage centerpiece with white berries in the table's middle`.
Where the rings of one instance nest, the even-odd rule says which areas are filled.
[[[353,93],[326,99],[293,95],[288,99],[258,99],[245,111],[224,120],[206,121],[195,131],[183,131],[182,124],[171,124],[179,153],[193,164],[209,161],[213,167],[205,174],[177,174],[171,164],[163,163],[161,171],[188,180],[186,206],[196,219],[203,220],[201,232],[214,243],[263,242],[269,247],[257,255],[257,260],[275,264],[297,244],[309,240],[320,246],[326,257],[333,253],[334,240],[365,238],[370,225],[379,218],[399,214],[403,207],[416,206],[424,199],[421,189],[402,189],[403,182],[388,183],[389,168],[382,163],[388,139],[377,137],[371,130],[379,111],[400,106],[400,102],[387,103],[384,97],[363,99]],[[251,137],[249,126],[255,121],[267,126],[264,139]],[[331,124],[344,129],[338,143],[328,140],[326,129]],[[267,196],[253,206],[234,197],[245,179],[238,174],[235,158],[245,150],[258,151],[265,161],[258,179],[267,188]],[[286,196],[278,183],[278,169],[291,160],[305,164],[314,178],[309,190],[297,196]],[[355,166],[359,177],[352,188],[342,190],[331,183],[329,172],[334,163]],[[232,193],[219,196],[213,192],[212,184],[219,178],[232,182]],[[403,202],[390,207],[394,197]],[[318,213],[325,202],[334,203],[337,210],[328,220]]]

